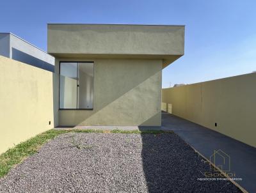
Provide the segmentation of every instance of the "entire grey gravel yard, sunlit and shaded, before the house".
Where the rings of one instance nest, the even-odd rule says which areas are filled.
[[[63,134],[4,178],[0,192],[241,192],[200,181],[209,164],[175,134]]]

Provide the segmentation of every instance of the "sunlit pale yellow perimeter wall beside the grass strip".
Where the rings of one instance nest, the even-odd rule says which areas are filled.
[[[52,72],[0,56],[0,153],[53,127]],[[51,121],[51,125],[49,125]]]

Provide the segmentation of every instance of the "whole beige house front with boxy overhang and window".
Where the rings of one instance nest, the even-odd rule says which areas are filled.
[[[184,26],[48,24],[55,126],[160,126],[162,69]]]

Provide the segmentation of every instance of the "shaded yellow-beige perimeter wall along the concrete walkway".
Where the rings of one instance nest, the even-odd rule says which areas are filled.
[[[163,89],[162,109],[256,147],[256,73]]]

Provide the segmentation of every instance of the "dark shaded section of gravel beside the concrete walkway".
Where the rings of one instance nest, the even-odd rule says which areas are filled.
[[[227,180],[198,180],[209,163],[178,135],[141,134],[141,139],[148,192],[241,192]]]

